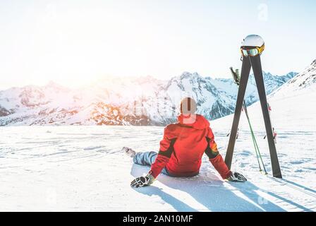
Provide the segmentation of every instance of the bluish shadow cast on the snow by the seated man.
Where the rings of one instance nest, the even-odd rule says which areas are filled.
[[[140,177],[140,175],[147,173],[148,167],[133,164],[130,174],[133,177]],[[265,201],[257,191],[260,190],[257,186],[250,182],[243,184],[229,183],[232,189],[224,186],[224,183],[217,178],[216,175],[210,176],[197,175],[191,178],[174,178],[166,175],[160,175],[159,182],[169,186],[171,189],[184,191],[192,196],[195,201],[205,206],[209,211],[285,211],[283,208],[274,203]],[[166,203],[169,203],[177,211],[200,211],[195,209],[183,201],[175,198],[171,194],[166,193],[163,189],[154,186],[147,186],[135,189],[147,196],[156,195],[162,198]],[[236,195],[240,193],[249,200]],[[270,194],[273,196],[273,194]],[[279,197],[283,200],[283,198]],[[292,203],[293,204],[293,203]]]

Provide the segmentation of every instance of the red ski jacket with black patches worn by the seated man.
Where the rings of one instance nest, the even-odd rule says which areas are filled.
[[[160,141],[159,153],[150,174],[156,178],[166,167],[171,176],[193,177],[200,171],[203,153],[207,154],[223,179],[231,175],[217,150],[209,121],[200,114],[188,117],[180,114],[178,123],[169,124],[164,129],[164,138]]]

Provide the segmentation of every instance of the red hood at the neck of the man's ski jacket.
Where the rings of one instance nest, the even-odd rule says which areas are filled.
[[[200,114],[189,114],[188,116],[180,114],[178,116],[178,123],[194,129],[205,129],[209,127],[209,121]]]

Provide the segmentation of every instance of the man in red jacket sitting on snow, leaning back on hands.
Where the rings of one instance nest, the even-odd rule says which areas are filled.
[[[130,148],[123,148],[127,155],[133,157],[135,164],[151,166],[147,176],[134,179],[131,186],[150,185],[161,172],[171,177],[193,177],[199,174],[204,153],[223,179],[231,182],[247,180],[242,174],[228,169],[217,150],[209,121],[195,111],[193,98],[186,97],[181,101],[178,123],[169,124],[164,129],[159,153],[136,153]]]

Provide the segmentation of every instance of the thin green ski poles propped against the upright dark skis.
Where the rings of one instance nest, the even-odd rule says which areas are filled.
[[[230,68],[230,70],[231,70],[231,74],[233,76],[233,81],[236,83],[236,85],[239,86],[240,81],[241,81],[241,77],[239,75],[239,70],[236,69],[236,71],[233,71],[232,67]],[[269,107],[269,109],[271,109],[271,108]],[[259,165],[260,172],[262,172],[262,168],[263,168],[263,170],[265,171],[265,174],[267,174],[267,170],[265,169],[265,164],[263,163],[262,156],[261,156],[259,147],[257,145],[257,140],[255,138],[255,133],[253,132],[253,126],[251,126],[251,123],[250,123],[250,118],[249,118],[248,109],[247,109],[247,105],[245,103],[245,100],[243,100],[243,111],[245,112],[245,116],[247,117],[247,121],[248,121],[248,125],[249,125],[249,128],[250,128],[251,137],[253,138],[253,145],[254,145],[254,148],[255,148],[255,154],[256,154],[256,157],[257,157],[257,162],[258,162],[258,165]]]

